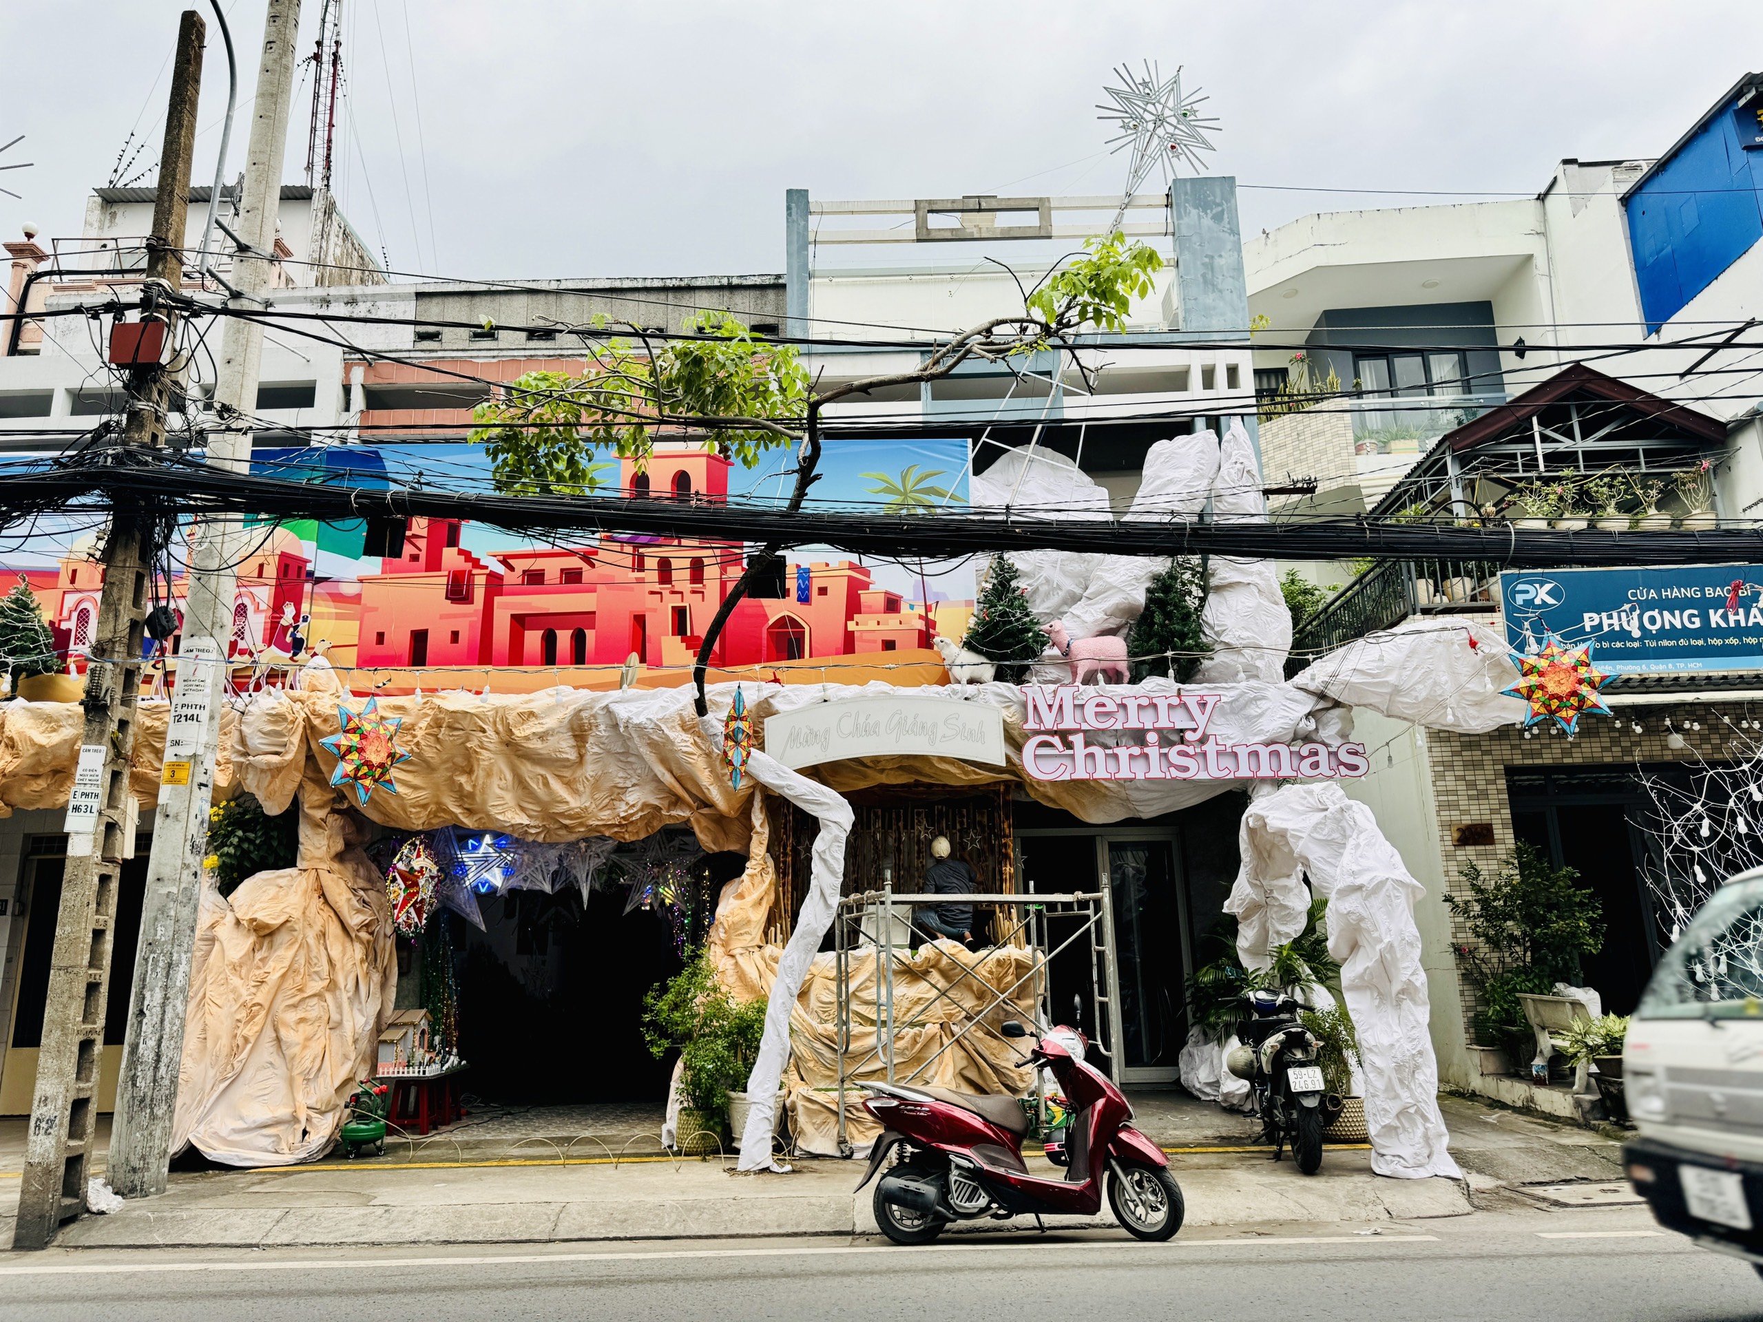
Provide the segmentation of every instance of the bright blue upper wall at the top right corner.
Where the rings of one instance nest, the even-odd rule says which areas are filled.
[[[1742,95],[1624,201],[1648,333],[1763,238],[1763,150],[1740,146]]]

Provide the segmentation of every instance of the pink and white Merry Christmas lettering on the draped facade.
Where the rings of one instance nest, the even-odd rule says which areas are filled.
[[[1227,693],[1023,686],[1023,767],[1037,781],[1350,779],[1365,744],[1229,742],[1211,730]],[[1091,740],[1100,732],[1139,732]]]

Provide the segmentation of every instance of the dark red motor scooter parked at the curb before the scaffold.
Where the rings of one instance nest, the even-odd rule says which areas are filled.
[[[1005,1036],[1024,1038],[1014,1019]],[[1075,1052],[1074,1052],[1075,1047]],[[896,1244],[924,1244],[950,1222],[1021,1214],[1095,1216],[1102,1177],[1116,1220],[1139,1239],[1169,1239],[1181,1229],[1181,1186],[1162,1149],[1127,1121],[1132,1107],[1084,1059],[1082,1033],[1056,1028],[1023,1065],[1044,1065],[1072,1107],[1063,1179],[1030,1174],[1023,1163],[1028,1114],[1012,1096],[973,1096],[920,1084],[862,1084],[864,1109],[882,1121],[862,1188],[896,1147],[899,1160],[876,1185],[874,1213]]]

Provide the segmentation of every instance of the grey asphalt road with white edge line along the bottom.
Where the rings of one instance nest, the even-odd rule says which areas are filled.
[[[695,1241],[543,1246],[531,1253],[446,1246],[298,1255],[51,1251],[0,1255],[0,1318],[1763,1317],[1763,1280],[1747,1264],[1638,1229],[1643,1225],[1634,1213],[1571,1220],[1477,1214],[1379,1236],[1310,1225],[1292,1236],[1245,1239],[1206,1229],[1169,1244],[1135,1244],[1116,1232],[961,1237],[917,1250]]]

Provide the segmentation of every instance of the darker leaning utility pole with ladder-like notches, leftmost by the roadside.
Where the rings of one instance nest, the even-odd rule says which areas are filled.
[[[146,240],[141,319],[164,326],[167,353],[176,344],[176,316],[166,307],[148,308],[155,294],[178,291],[183,280],[183,226],[190,197],[205,32],[201,16],[185,11],[171,69],[166,143],[159,153],[153,233]],[[146,338],[143,333],[143,340]],[[166,441],[173,382],[162,367],[164,354],[145,356],[150,363],[134,367],[129,379],[129,420],[123,425],[127,446],[162,446]],[[37,1089],[30,1107],[12,1248],[48,1246],[62,1222],[86,1209],[86,1158],[92,1155],[97,1123],[116,892],[134,821],[129,753],[134,744],[157,522],[150,509],[118,509],[111,516],[104,545],[104,596],[86,665],[86,723],[79,739],[79,769],[63,827],[67,871],[55,922],[55,950],[49,955],[42,1049],[37,1052]]]

